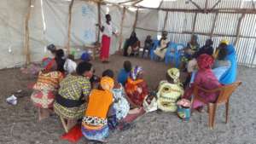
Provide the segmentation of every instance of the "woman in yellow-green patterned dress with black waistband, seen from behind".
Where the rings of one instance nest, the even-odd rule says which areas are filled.
[[[93,74],[89,62],[80,62],[76,72],[61,81],[58,95],[56,95],[54,110],[61,118],[67,119],[67,129],[77,124],[83,117],[90,95],[90,78]]]

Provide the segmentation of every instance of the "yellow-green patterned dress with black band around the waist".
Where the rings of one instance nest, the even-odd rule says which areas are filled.
[[[61,81],[59,95],[67,100],[79,101],[80,97],[90,95],[90,80],[82,76],[68,75]],[[55,101],[54,110],[62,118],[82,118],[87,101],[79,107],[65,107]]]

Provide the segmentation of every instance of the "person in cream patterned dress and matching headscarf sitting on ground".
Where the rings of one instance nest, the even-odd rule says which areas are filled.
[[[157,106],[164,112],[177,111],[177,99],[183,95],[183,87],[179,83],[180,72],[171,68],[166,73],[166,81],[161,81],[157,92]]]

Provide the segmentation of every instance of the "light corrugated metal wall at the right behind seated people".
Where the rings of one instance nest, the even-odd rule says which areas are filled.
[[[205,1],[194,0],[202,9],[205,8]],[[208,8],[212,8],[218,0],[209,0]],[[188,0],[167,1],[164,2],[161,8],[168,9],[197,9],[195,5],[189,3]],[[243,0],[223,0],[218,3],[216,9],[253,9],[251,1]],[[216,14],[197,14],[195,21],[195,34],[199,37],[201,46],[205,43],[209,36],[206,33],[211,33],[212,25]],[[219,41],[227,39],[234,44],[236,41],[236,31],[238,21],[242,14],[218,14],[214,34],[225,35],[223,37],[213,36],[214,47],[218,46]],[[166,11],[159,12],[159,31],[163,30],[165,23]],[[187,43],[191,34],[183,34],[184,32],[193,32],[193,21],[195,13],[169,12],[166,21],[166,31],[170,32],[169,38],[176,43]],[[241,66],[256,66],[256,14],[245,14],[241,20],[241,37],[236,43],[237,61]],[[231,37],[232,36],[232,37]]]

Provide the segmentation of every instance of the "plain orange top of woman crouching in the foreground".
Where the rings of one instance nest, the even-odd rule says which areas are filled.
[[[108,90],[93,89],[85,116],[107,118],[108,108],[113,102],[113,94]]]

